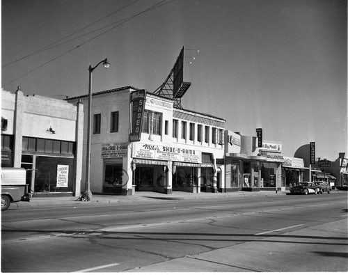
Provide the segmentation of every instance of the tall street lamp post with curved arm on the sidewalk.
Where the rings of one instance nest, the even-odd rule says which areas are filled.
[[[92,72],[95,68],[97,68],[98,65],[103,63],[104,68],[109,68],[110,63],[108,62],[108,59],[105,58],[103,61],[100,61],[100,63],[97,63],[94,67],[92,65],[89,65],[88,71],[89,71],[89,82],[88,82],[88,122],[87,122],[87,155],[86,155],[86,184],[85,184],[85,193],[84,193],[84,200],[90,201],[92,199],[92,192],[90,191],[90,128],[92,124]]]

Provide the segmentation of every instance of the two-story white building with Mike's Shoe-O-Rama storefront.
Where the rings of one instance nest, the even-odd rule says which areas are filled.
[[[88,106],[87,95],[68,102],[78,100]],[[93,93],[92,115],[93,193],[224,189],[226,120],[175,108],[173,100],[132,86]]]

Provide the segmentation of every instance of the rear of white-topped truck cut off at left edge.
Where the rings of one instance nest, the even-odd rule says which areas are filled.
[[[1,211],[10,203],[29,201],[26,170],[24,168],[1,167]]]

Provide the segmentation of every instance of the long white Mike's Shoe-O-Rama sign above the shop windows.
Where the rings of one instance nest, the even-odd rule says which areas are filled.
[[[173,162],[202,162],[201,151],[148,143],[133,143],[132,157],[170,160]]]

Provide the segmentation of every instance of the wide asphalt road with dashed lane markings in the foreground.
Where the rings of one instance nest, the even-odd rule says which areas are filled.
[[[347,272],[347,192],[1,215],[2,272]]]

